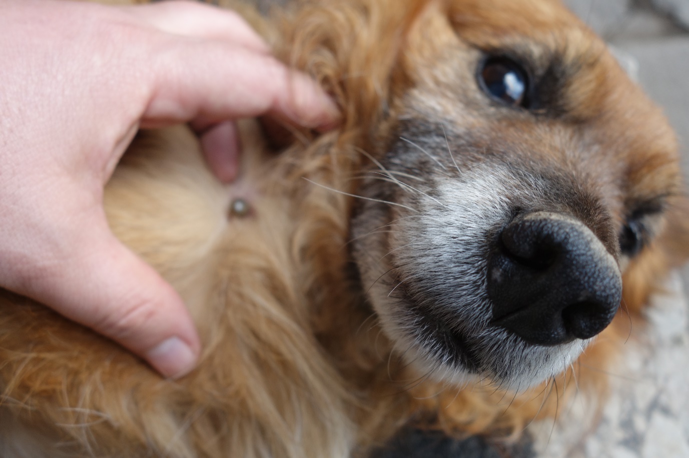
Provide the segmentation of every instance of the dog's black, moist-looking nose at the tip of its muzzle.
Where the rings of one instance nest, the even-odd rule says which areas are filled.
[[[622,294],[617,262],[573,217],[515,218],[488,264],[493,323],[531,344],[588,339],[613,320]]]

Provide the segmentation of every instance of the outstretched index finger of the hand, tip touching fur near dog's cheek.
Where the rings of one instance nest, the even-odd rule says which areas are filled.
[[[212,125],[263,114],[315,129],[340,121],[335,103],[315,81],[267,54],[221,41],[178,39],[152,64],[153,90],[142,127]]]

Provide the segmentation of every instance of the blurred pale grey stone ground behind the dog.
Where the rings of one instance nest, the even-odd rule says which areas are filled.
[[[689,0],[565,0],[614,48],[677,130],[689,176]],[[689,269],[655,298],[650,329],[627,342],[617,387],[600,419],[575,406],[531,428],[547,458],[689,457]],[[639,333],[641,334],[641,333]],[[586,435],[587,431],[594,432]]]

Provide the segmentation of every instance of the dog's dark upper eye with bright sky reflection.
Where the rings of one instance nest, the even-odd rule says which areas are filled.
[[[482,89],[511,107],[528,107],[528,78],[521,65],[506,57],[489,57],[479,74]]]

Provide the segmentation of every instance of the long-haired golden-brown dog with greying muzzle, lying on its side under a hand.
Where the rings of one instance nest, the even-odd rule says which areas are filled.
[[[2,456],[347,457],[604,393],[689,247],[675,138],[604,43],[553,0],[314,0],[254,25],[345,123],[275,156],[247,122],[229,187],[188,129],[141,134],[110,224],[203,359],[161,379],[3,292]]]

